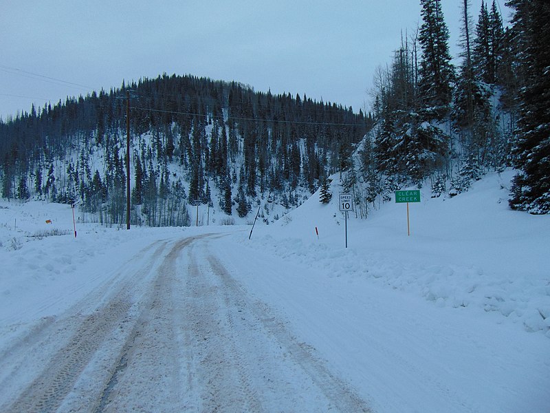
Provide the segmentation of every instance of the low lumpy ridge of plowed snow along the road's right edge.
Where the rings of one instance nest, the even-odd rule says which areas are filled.
[[[527,331],[542,330],[550,338],[548,279],[523,275],[498,278],[475,266],[406,264],[380,253],[363,253],[358,248],[331,250],[326,244],[275,240],[269,235],[262,238],[260,245],[332,277],[369,277],[377,286],[414,293],[438,307],[474,307],[496,312],[514,323],[521,321]]]

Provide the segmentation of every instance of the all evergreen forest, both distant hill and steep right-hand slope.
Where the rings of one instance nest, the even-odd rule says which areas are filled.
[[[122,224],[130,178],[133,224],[189,225],[196,204],[226,222],[263,205],[269,223],[267,204],[290,209],[319,188],[328,202],[339,173],[366,218],[397,189],[454,196],[514,167],[510,207],[550,213],[550,2],[509,0],[505,25],[495,0],[460,0],[460,56],[441,0],[420,3],[368,113],[190,75],[123,82],[0,120],[1,194]]]

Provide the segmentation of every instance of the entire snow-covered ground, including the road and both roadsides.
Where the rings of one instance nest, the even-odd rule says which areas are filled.
[[[511,176],[422,190],[410,236],[349,213],[348,248],[336,182],[251,240],[0,202],[0,409],[549,412],[550,216]]]

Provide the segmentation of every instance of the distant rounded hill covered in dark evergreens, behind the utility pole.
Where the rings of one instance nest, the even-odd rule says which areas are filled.
[[[291,207],[298,188],[312,193],[344,167],[372,124],[307,96],[194,76],[142,79],[0,123],[3,197],[76,202],[100,222],[125,222],[127,92],[137,224],[186,225],[196,202],[244,217],[266,193]]]

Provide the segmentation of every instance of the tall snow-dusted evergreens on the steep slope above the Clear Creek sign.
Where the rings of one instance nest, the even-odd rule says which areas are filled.
[[[550,212],[550,2],[513,0],[510,28],[496,2],[472,23],[461,0],[461,64],[451,63],[440,0],[421,0],[422,23],[375,78],[377,127],[344,185],[366,213],[396,189],[431,184],[456,195],[489,170],[518,169],[509,204]],[[547,30],[549,29],[549,30]]]

